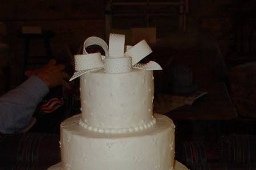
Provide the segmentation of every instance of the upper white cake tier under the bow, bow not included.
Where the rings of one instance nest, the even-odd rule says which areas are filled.
[[[136,131],[155,125],[152,71],[89,72],[80,77],[80,94],[80,125],[86,128]]]

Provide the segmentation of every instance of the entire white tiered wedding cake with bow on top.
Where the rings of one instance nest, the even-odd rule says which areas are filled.
[[[90,37],[75,56],[71,80],[80,78],[82,114],[60,125],[62,161],[49,169],[186,169],[174,160],[172,120],[153,114],[153,70],[161,67],[139,63],[152,52],[145,40],[132,47],[124,38],[111,34],[107,45]],[[100,45],[104,56],[87,53],[90,45]]]

